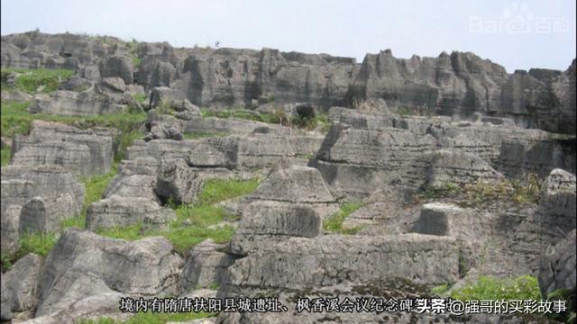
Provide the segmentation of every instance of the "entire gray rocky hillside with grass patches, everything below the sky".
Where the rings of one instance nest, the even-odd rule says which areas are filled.
[[[27,32],[1,63],[2,321],[574,316],[575,61]]]

